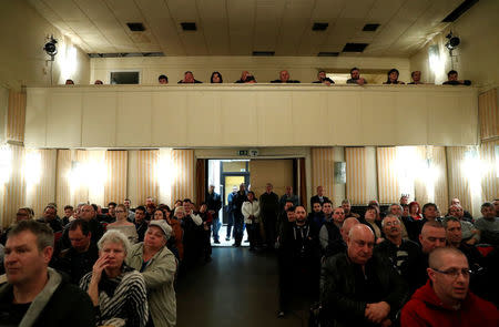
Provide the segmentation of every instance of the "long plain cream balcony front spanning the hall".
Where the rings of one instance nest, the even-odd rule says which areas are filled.
[[[32,147],[478,144],[478,91],[441,85],[71,85],[27,90]]]

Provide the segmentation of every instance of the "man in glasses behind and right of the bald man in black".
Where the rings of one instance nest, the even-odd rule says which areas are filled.
[[[415,272],[417,272],[416,268],[421,256],[419,246],[415,242],[401,237],[401,223],[394,214],[388,214],[383,219],[381,228],[385,233],[385,241],[376,245],[375,254],[387,258],[407,282],[410,292],[416,290],[418,285],[416,285]]]

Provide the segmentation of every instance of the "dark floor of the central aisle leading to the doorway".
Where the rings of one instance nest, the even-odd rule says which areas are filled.
[[[307,326],[306,304],[277,318],[277,268],[273,253],[213,248],[213,260],[179,280],[179,327]]]

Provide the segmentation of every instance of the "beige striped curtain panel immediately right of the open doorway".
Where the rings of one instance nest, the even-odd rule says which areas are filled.
[[[323,186],[325,195],[333,201],[335,190],[334,147],[312,149],[312,190],[314,194],[317,186]],[[308,203],[306,195],[302,201]]]

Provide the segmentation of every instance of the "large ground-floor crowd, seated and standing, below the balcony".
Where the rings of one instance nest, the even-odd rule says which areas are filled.
[[[406,195],[335,206],[316,191],[309,213],[291,186],[227,198],[226,241],[276,257],[277,317],[298,298],[320,326],[497,326],[499,200],[476,218],[458,198],[445,213]],[[176,280],[212,260],[222,208],[213,185],[198,205],[19,208],[0,238],[0,325],[175,326]]]

